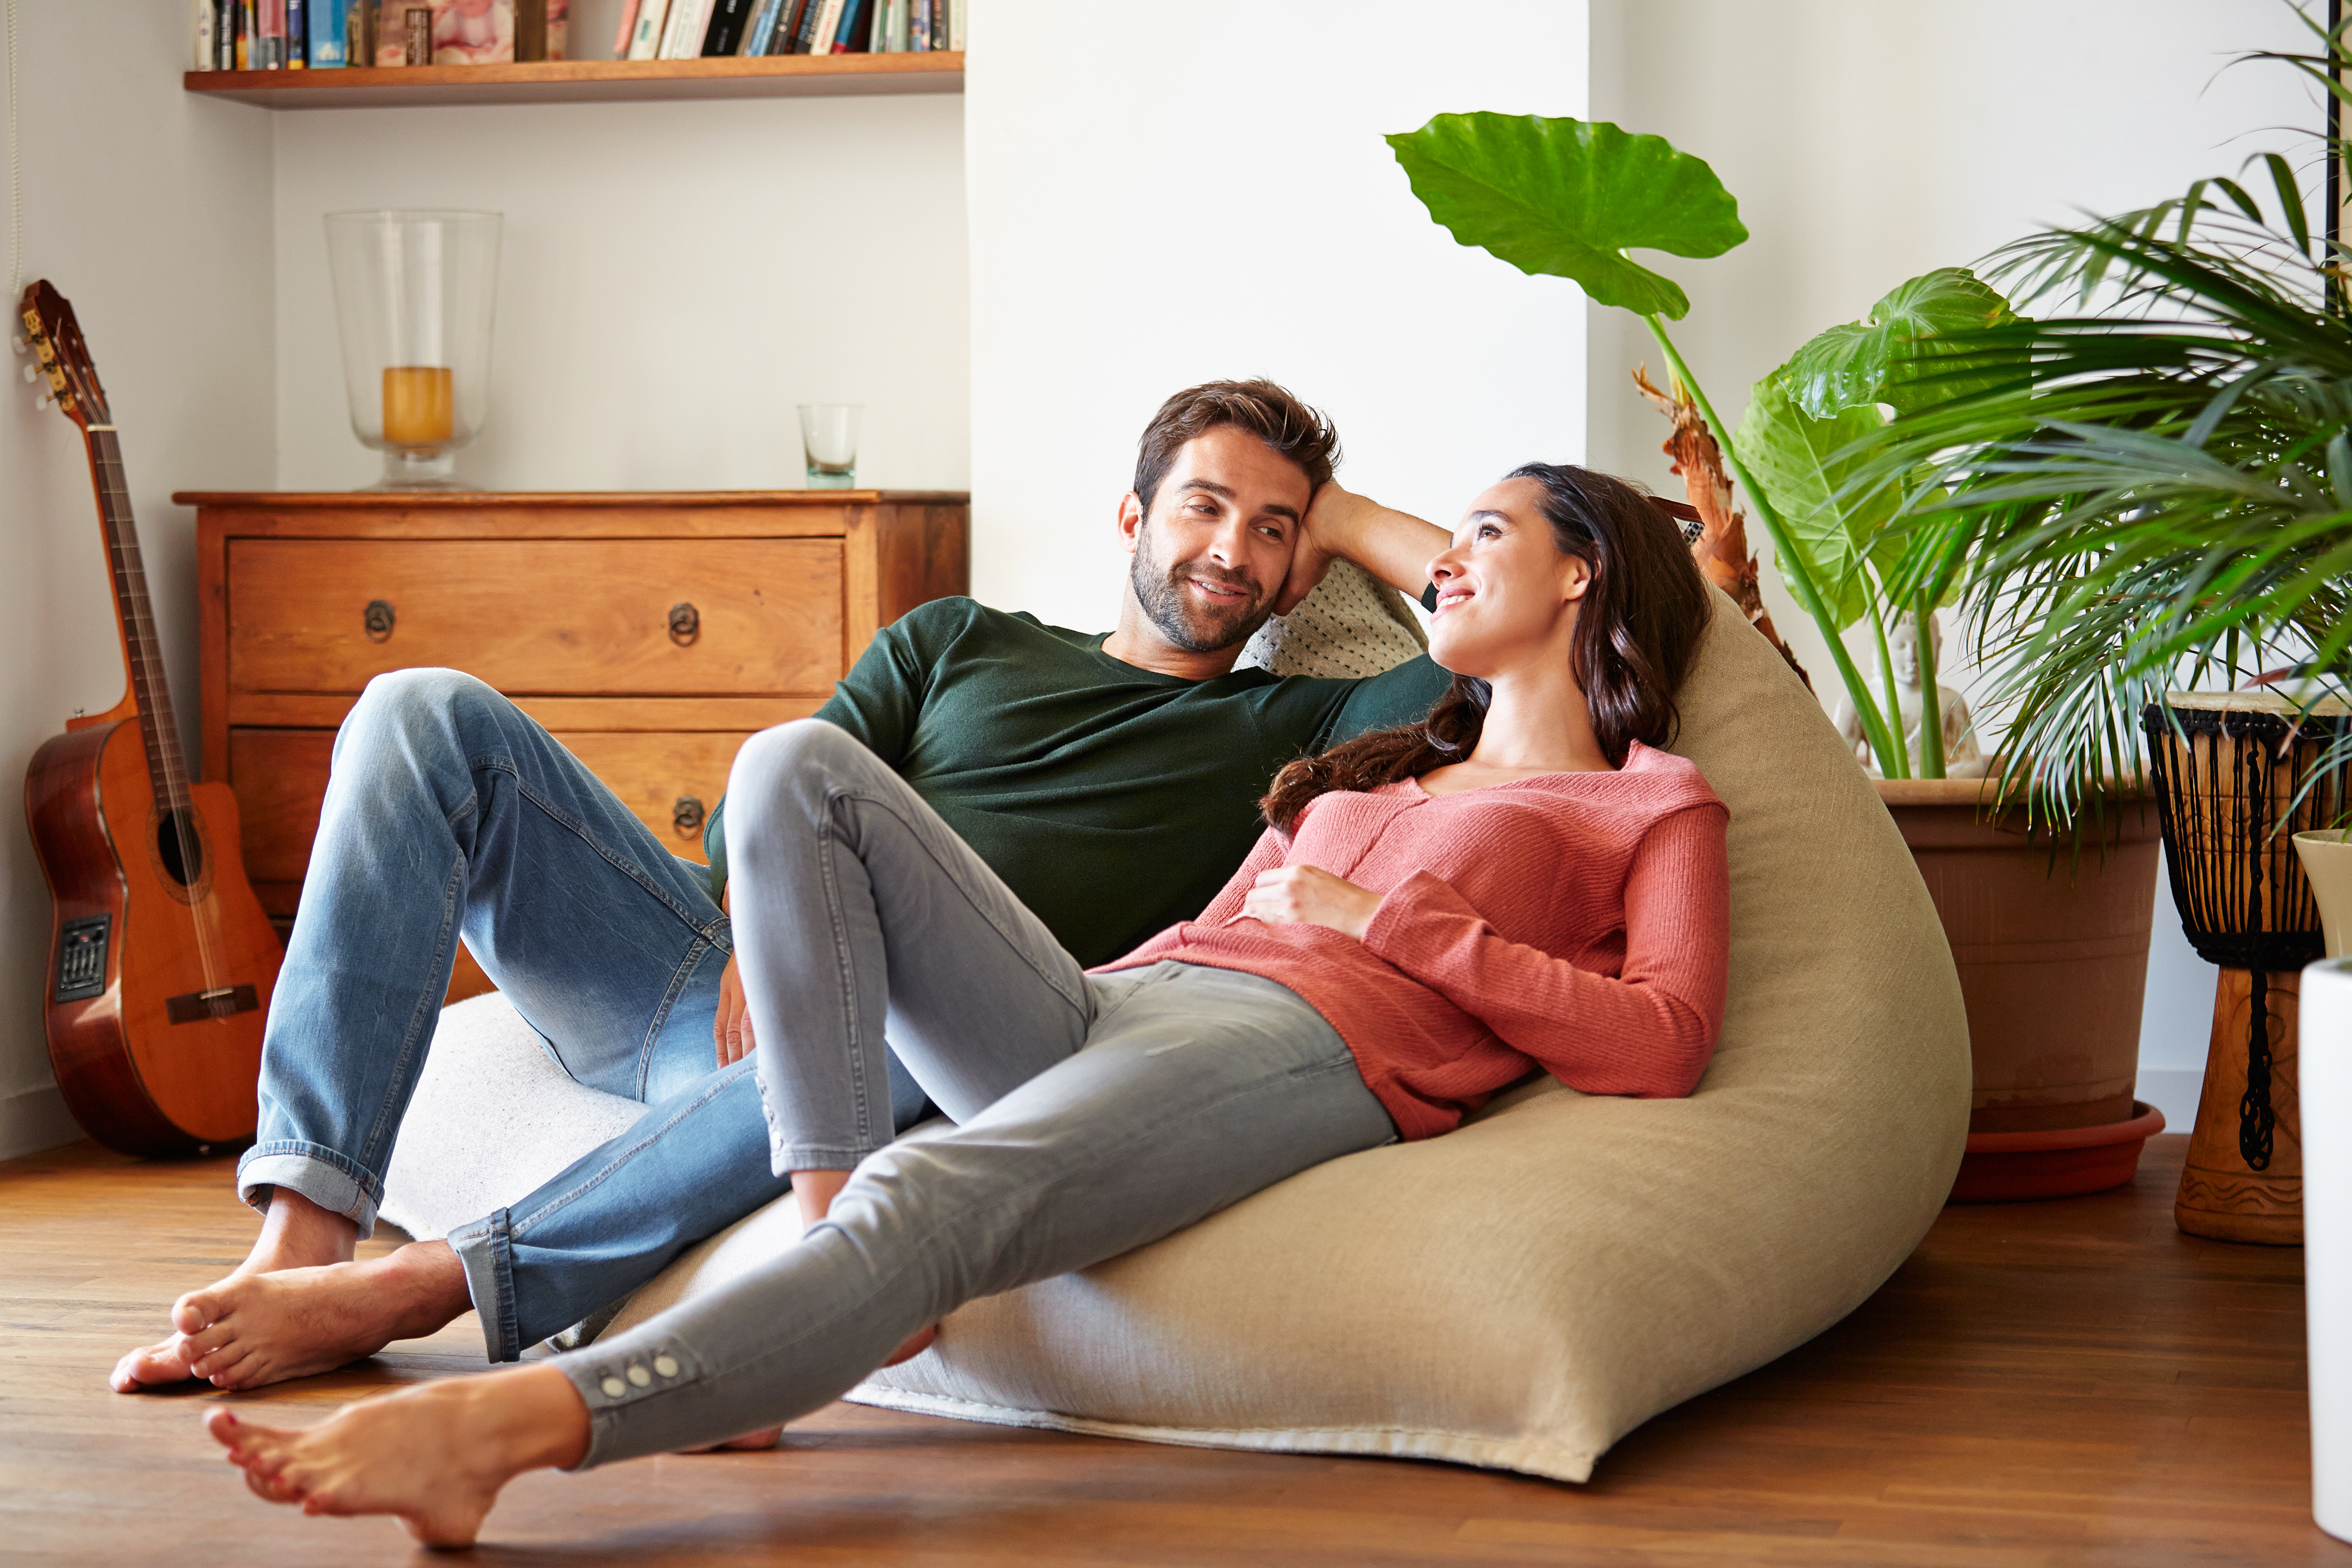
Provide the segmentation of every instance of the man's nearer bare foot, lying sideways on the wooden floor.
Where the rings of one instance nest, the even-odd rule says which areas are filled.
[[[367,1262],[230,1274],[191,1291],[172,1307],[179,1335],[169,1354],[188,1378],[254,1389],[348,1366],[393,1340],[433,1333],[466,1307],[456,1253],[442,1241],[416,1241]]]

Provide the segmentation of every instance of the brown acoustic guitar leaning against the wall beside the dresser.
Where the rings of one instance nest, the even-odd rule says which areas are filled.
[[[254,1135],[278,933],[245,884],[238,802],[188,783],[122,447],[73,306],[21,301],[56,407],[82,428],[129,684],[33,752],[26,816],[49,879],[49,1060],[66,1107],[127,1154],[200,1154]]]

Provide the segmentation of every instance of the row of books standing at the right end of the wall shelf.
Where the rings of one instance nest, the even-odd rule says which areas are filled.
[[[927,54],[964,47],[967,0],[628,0],[621,59]]]

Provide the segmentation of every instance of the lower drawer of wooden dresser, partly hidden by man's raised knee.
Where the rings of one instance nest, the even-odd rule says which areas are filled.
[[[673,856],[703,858],[701,818],[727,792],[743,733],[727,731],[576,731],[555,736],[590,773],[654,830]],[[294,914],[320,804],[334,731],[327,729],[230,729],[228,778],[238,792],[245,832],[245,875],[261,907],[285,919]],[[680,804],[694,802],[680,827]]]

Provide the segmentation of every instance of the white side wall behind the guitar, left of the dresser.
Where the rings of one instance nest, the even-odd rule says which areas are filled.
[[[186,14],[155,0],[24,5],[19,125],[24,275],[47,277],[73,303],[122,428],[193,755],[193,517],[169,494],[270,482],[270,134],[259,108],[181,92]],[[14,320],[14,294],[9,310]],[[9,780],[66,715],[111,708],[125,679],[82,442],[56,409],[35,411],[35,390],[16,378],[28,362],[0,360],[0,778]],[[80,1135],[42,1039],[47,947],[49,891],[12,806],[0,813],[0,1159]]]

